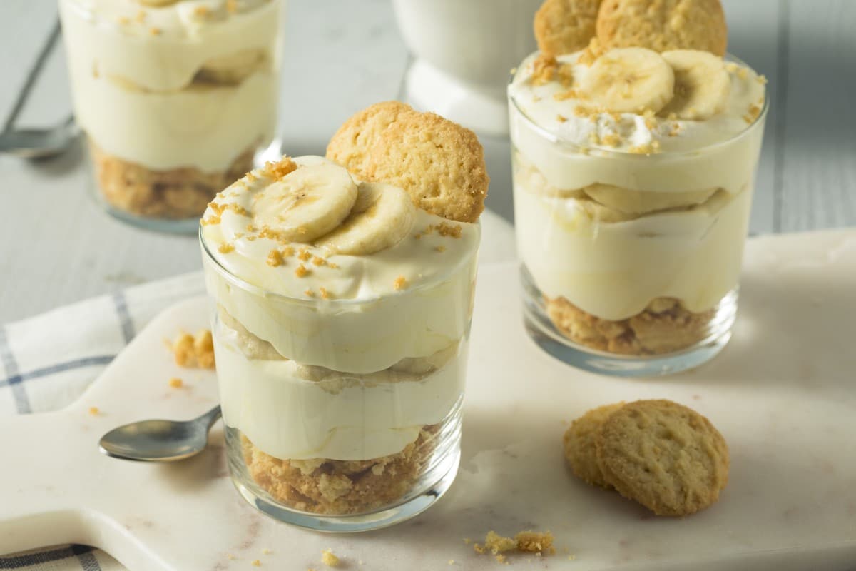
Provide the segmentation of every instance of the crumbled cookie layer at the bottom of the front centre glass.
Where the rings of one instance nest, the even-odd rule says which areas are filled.
[[[277,502],[313,514],[360,514],[406,497],[425,473],[439,425],[426,425],[415,442],[372,460],[282,460],[265,454],[247,437],[241,445],[247,471]]]

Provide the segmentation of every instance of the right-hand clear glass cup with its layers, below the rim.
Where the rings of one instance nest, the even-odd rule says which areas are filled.
[[[569,365],[615,376],[712,359],[736,316],[766,100],[739,134],[655,154],[574,145],[534,122],[511,90],[508,103],[532,339]],[[693,205],[668,206],[693,194]],[[629,203],[655,206],[633,213]]]

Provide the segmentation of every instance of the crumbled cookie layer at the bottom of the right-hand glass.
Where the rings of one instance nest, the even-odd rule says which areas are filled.
[[[716,309],[693,313],[679,300],[660,297],[632,318],[609,321],[582,311],[563,297],[544,298],[547,315],[562,335],[615,354],[665,354],[692,347],[710,332]]]

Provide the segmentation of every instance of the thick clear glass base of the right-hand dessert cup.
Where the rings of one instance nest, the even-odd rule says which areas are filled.
[[[523,320],[532,341],[547,354],[570,366],[613,377],[656,377],[703,365],[728,344],[737,311],[737,293],[734,290],[716,307],[716,314],[710,320],[709,334],[692,346],[667,354],[612,354],[574,342],[556,328],[547,315],[544,294],[524,265],[520,266],[520,282],[523,288]]]

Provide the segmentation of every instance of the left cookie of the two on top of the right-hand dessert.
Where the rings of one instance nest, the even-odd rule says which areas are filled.
[[[544,0],[535,13],[538,50],[553,56],[580,51],[595,35],[601,0]]]

